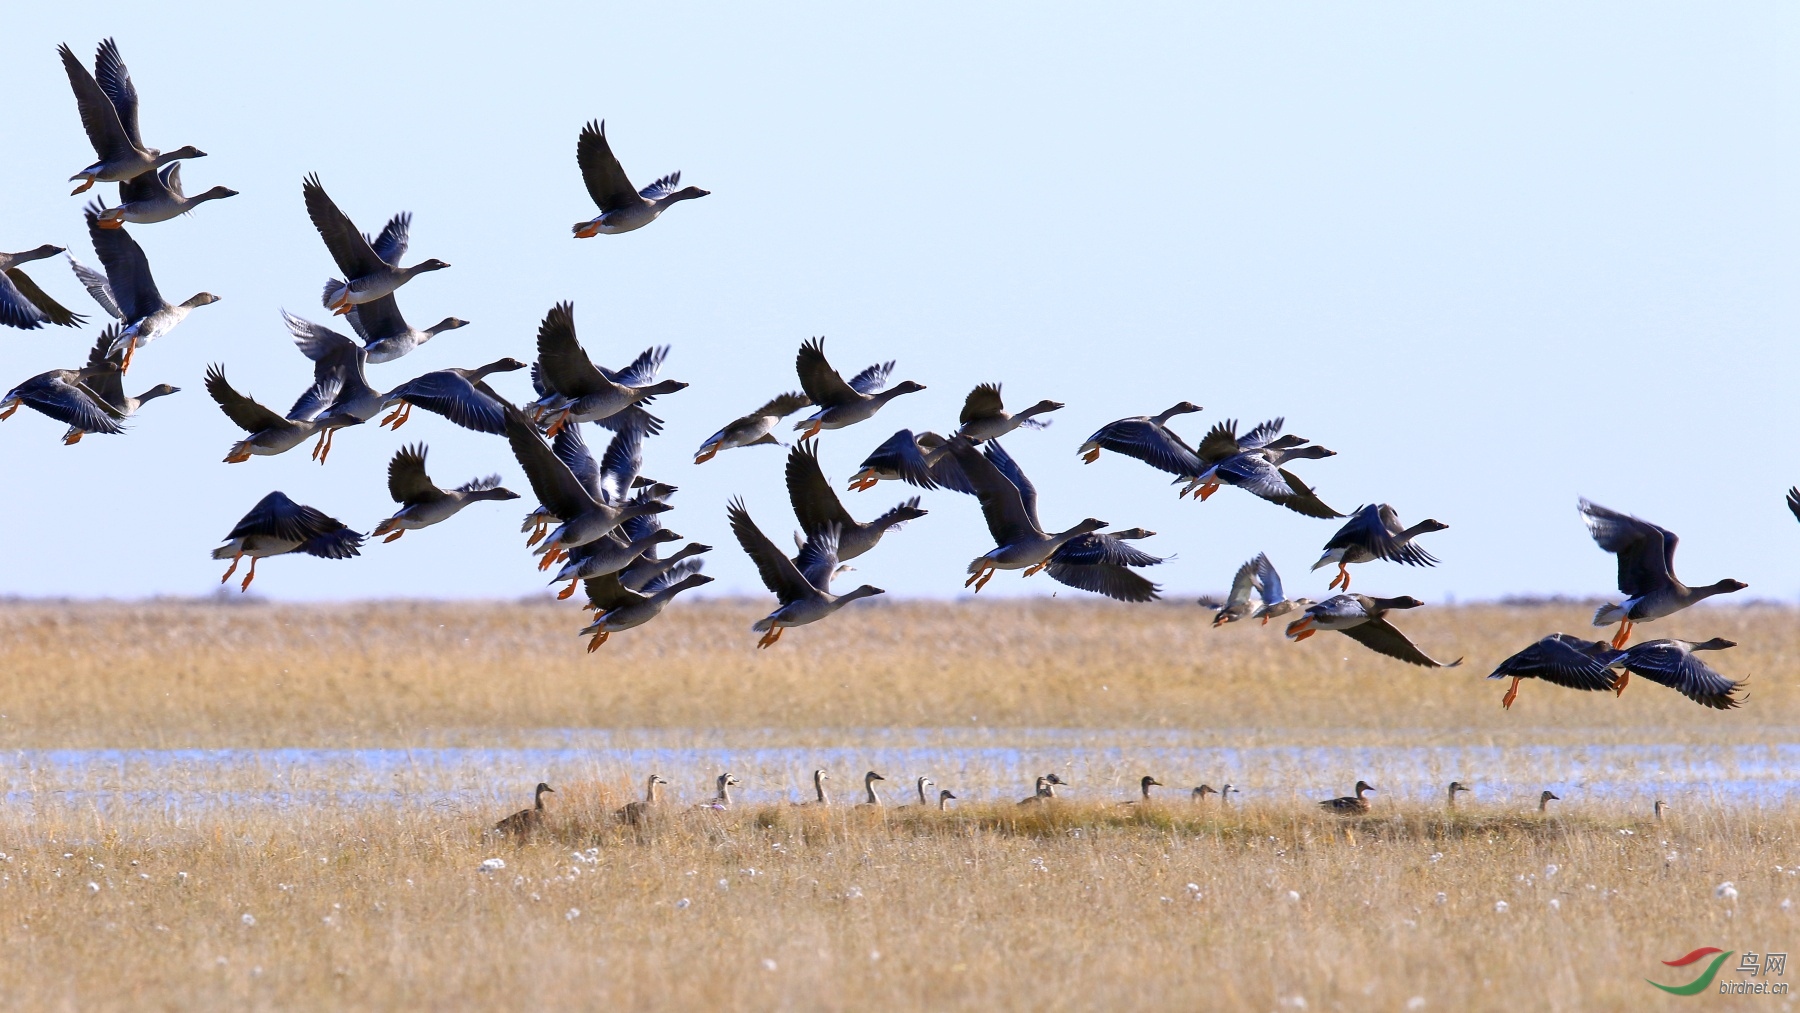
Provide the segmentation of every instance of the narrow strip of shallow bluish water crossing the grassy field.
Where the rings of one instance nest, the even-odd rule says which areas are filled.
[[[1800,793],[1800,743],[1759,745],[1197,745],[1183,732],[1069,729],[884,729],[837,732],[560,731],[531,749],[221,749],[20,750],[0,758],[7,806],[146,808],[180,819],[216,808],[436,808],[486,813],[529,801],[531,784],[635,786],[662,774],[677,801],[711,795],[731,770],[743,802],[812,795],[812,770],[833,797],[859,799],[880,770],[884,799],[916,801],[929,775],[965,801],[1019,799],[1049,770],[1069,799],[1125,799],[1154,774],[1174,797],[1231,783],[1244,801],[1319,799],[1368,779],[1384,799],[1429,801],[1458,779],[1474,801],[1535,804],[1550,788],[1570,804],[1667,799],[1778,806]],[[1229,738],[1229,736],[1224,736]],[[1246,741],[1256,734],[1246,731]],[[1217,734],[1213,734],[1217,741]]]

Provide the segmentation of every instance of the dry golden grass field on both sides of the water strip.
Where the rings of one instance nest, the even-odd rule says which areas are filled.
[[[482,835],[529,801],[531,784],[509,779],[482,784],[506,804],[443,804],[423,788],[270,804],[232,799],[266,788],[257,779],[292,786],[292,772],[214,777],[202,758],[160,784],[162,774],[104,765],[56,784],[49,766],[20,759],[11,775],[0,766],[13,783],[0,808],[0,1006],[1784,1002],[1676,999],[1643,979],[1690,981],[1696,966],[1660,961],[1696,946],[1787,952],[1800,941],[1800,910],[1787,903],[1800,898],[1800,806],[1696,792],[1661,822],[1638,797],[1566,797],[1539,815],[1526,801],[1537,784],[1521,777],[1507,790],[1478,783],[1447,811],[1384,783],[1402,747],[1420,743],[1683,743],[1706,756],[1800,741],[1796,615],[1773,606],[1692,610],[1643,632],[1739,641],[1717,662],[1750,678],[1739,711],[1633,682],[1622,698],[1526,684],[1503,713],[1503,684],[1481,677],[1537,635],[1580,632],[1584,612],[1418,610],[1402,628],[1469,662],[1415,671],[1343,637],[1287,644],[1274,628],[1211,630],[1202,612],[1174,605],[898,603],[754,651],[754,605],[693,603],[594,655],[567,606],[7,605],[0,749],[20,758],[529,747],[556,729],[839,749],[880,738],[868,729],[938,729],[952,745],[958,729],[999,740],[1006,729],[1093,729],[1127,745],[1103,777],[1084,768],[1069,801],[1017,806],[1030,784],[990,777],[947,813],[688,811],[713,770],[662,770],[680,799],[648,828],[612,819],[648,770],[596,758],[587,774],[558,777],[544,831],[526,842]],[[1179,790],[1120,806],[1152,756],[1130,745],[1130,729],[1224,745],[1363,743],[1372,759],[1271,772],[1229,806]],[[1559,756],[1543,754],[1530,777],[1557,774]],[[851,795],[859,770],[837,774]],[[1184,788],[1175,777],[1192,772],[1161,774]],[[1496,784],[1503,774],[1492,772]],[[1341,793],[1359,775],[1382,786],[1366,817],[1307,801],[1323,797],[1318,784]],[[158,786],[187,802],[158,804]],[[482,871],[488,858],[504,869]],[[1760,981],[1735,964],[1719,981]]]

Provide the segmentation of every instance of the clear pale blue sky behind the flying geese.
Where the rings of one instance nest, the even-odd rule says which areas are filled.
[[[416,439],[443,484],[500,471],[527,500],[353,561],[270,560],[256,590],[544,587],[518,534],[529,491],[497,437],[419,412],[400,435],[340,434],[326,468],[304,452],[220,462],[238,432],[205,363],[283,410],[308,380],[279,309],[326,318],[310,171],[364,229],[412,211],[414,259],[454,264],[400,293],[414,324],[473,320],[371,367],[376,385],[531,358],[562,299],[599,362],[673,345],[664,376],[693,387],[657,405],[648,471],[682,488],[670,527],[718,547],[707,590],[760,592],[724,524],[731,495],[779,538],[792,515],[783,452],[697,468],[693,448],[794,389],[810,335],[846,374],[896,358],[895,380],[929,385],[826,434],[835,482],[900,426],[952,426],[977,381],[1017,405],[1057,398],[1049,430],[1008,441],[1046,524],[1159,531],[1148,547],[1179,554],[1157,572],[1172,594],[1220,588],[1267,551],[1318,596],[1325,570],[1305,567],[1334,531],[1235,489],[1190,506],[1143,464],[1075,457],[1098,425],[1183,398],[1206,405],[1177,425],[1190,439],[1287,416],[1339,452],[1298,468],[1327,502],[1451,525],[1429,540],[1440,567],[1363,567],[1359,590],[1606,592],[1579,495],[1681,533],[1690,581],[1800,588],[1782,507],[1800,480],[1793,5],[374,7],[9,14],[0,248],[50,241],[94,263],[63,182],[92,149],[59,41],[92,61],[115,36],[146,139],[211,153],[184,167],[189,193],[241,196],[133,227],[166,295],[223,297],[133,363],[133,392],[182,394],[76,448],[32,412],[0,425],[0,594],[207,594],[209,549],[263,493],[367,531],[394,509],[387,459]],[[592,216],[574,139],[599,117],[634,180],[680,169],[713,196],[571,239]],[[94,311],[61,261],[32,275]],[[0,329],[0,389],[79,365],[94,331]],[[529,390],[524,374],[497,387]],[[905,495],[846,502],[868,516]],[[992,547],[979,511],[941,491],[925,506],[860,579],[961,590]],[[1057,587],[1001,574],[985,594]]]

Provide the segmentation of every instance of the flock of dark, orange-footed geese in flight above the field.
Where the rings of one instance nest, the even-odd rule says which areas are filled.
[[[0,399],[0,419],[20,407],[50,416],[68,428],[65,443],[85,435],[119,435],[149,401],[175,394],[176,387],[158,383],[142,394],[126,396],[124,374],[135,353],[171,333],[193,309],[216,302],[216,295],[198,293],[169,302],[151,277],[149,259],[137,234],[157,223],[196,211],[202,203],[234,196],[236,191],[212,187],[185,196],[182,162],[205,157],[193,146],[162,151],[149,148],[139,131],[139,92],[119,54],[106,40],[99,45],[94,70],[65,45],[63,68],[76,95],[83,128],[97,160],[70,180],[74,193],[95,184],[117,184],[117,203],[104,198],[85,209],[88,238],[101,268],[70,257],[83,288],[113,320],[97,335],[85,365],[50,369],[13,387]],[[603,122],[589,122],[576,139],[576,166],[599,214],[572,227],[576,238],[612,236],[657,221],[670,207],[707,196],[698,187],[682,187],[680,173],[671,173],[646,187],[634,187],[614,157]],[[688,385],[657,380],[668,347],[652,347],[632,362],[608,369],[598,365],[576,335],[574,306],[558,302],[536,333],[533,362],[497,358],[468,369],[439,369],[398,385],[376,385],[369,367],[392,363],[445,331],[466,320],[446,317],[419,329],[407,322],[396,293],[414,277],[446,270],[439,259],[403,266],[412,216],[394,214],[374,236],[358,229],[326,193],[322,180],[310,175],[301,184],[301,203],[324,241],[337,268],[322,286],[320,302],[329,318],[342,317],[353,335],[283,311],[295,349],[308,362],[304,387],[293,405],[281,412],[227,380],[223,365],[207,369],[203,387],[223,416],[243,435],[229,444],[225,462],[241,464],[256,457],[288,453],[311,443],[311,457],[324,464],[337,432],[374,421],[376,426],[401,428],[414,408],[437,414],[455,426],[504,437],[518,461],[538,506],[524,522],[527,547],[536,567],[562,583],[560,597],[585,588],[594,617],[581,635],[589,651],[614,633],[655,619],[684,590],[711,578],[702,574],[698,556],[711,547],[688,542],[662,554],[662,547],[682,536],[664,527],[664,515],[677,486],[643,475],[644,441],[657,435],[662,419],[650,408],[659,398]],[[22,270],[22,264],[63,254],[61,247],[38,247],[23,254],[0,254],[0,324],[13,327],[70,326],[86,322],[49,297]],[[893,362],[882,362],[848,380],[826,358],[824,340],[799,345],[794,360],[799,390],[781,392],[763,405],[727,423],[695,452],[704,464],[727,450],[783,444],[779,432],[790,416],[794,444],[787,453],[788,498],[799,524],[796,551],[769,538],[752,520],[742,498],[727,504],[725,518],[742,549],[756,563],[761,581],[774,592],[778,606],[754,624],[761,633],[758,648],[776,644],[783,632],[819,623],[846,605],[882,594],[860,585],[833,592],[833,579],[851,560],[875,549],[902,524],[925,516],[914,495],[871,520],[857,520],[826,480],[819,464],[819,439],[871,421],[889,403],[923,385],[905,380],[889,385]],[[513,403],[490,381],[502,372],[529,371],[535,399]],[[1046,527],[1039,515],[1037,488],[1019,462],[1001,446],[1001,437],[1021,430],[1040,430],[1046,416],[1060,410],[1060,401],[1042,399],[1012,412],[999,383],[974,387],[963,401],[958,425],[949,435],[902,428],[882,441],[850,479],[851,491],[868,491],[882,482],[904,482],[916,489],[947,489],[976,498],[994,536],[994,549],[972,560],[963,587],[979,592],[999,570],[1024,576],[1048,572],[1053,581],[1120,601],[1143,603],[1157,597],[1157,585],[1139,570],[1163,563],[1136,543],[1154,533],[1141,527],[1111,529],[1105,520],[1084,518],[1064,529]],[[1352,567],[1390,561],[1411,567],[1436,565],[1418,540],[1445,525],[1420,520],[1404,525],[1388,504],[1363,506],[1350,515],[1325,504],[1292,468],[1301,461],[1334,457],[1332,450],[1305,437],[1283,434],[1283,419],[1271,419],[1246,432],[1235,421],[1208,428],[1190,444],[1174,428],[1181,416],[1201,412],[1190,401],[1172,405],[1156,416],[1118,419],[1089,435],[1076,453],[1085,462],[1103,453],[1136,459],[1163,471],[1179,486],[1179,497],[1208,500],[1222,486],[1258,497],[1307,518],[1346,518],[1332,534],[1314,570],[1336,567],[1323,601],[1287,597],[1282,578],[1265,554],[1246,561],[1231,581],[1217,610],[1215,626],[1283,617],[1285,635],[1305,641],[1319,632],[1343,633],[1381,655],[1426,668],[1451,668],[1462,659],[1440,662],[1413,644],[1393,617],[1420,608],[1411,596],[1379,597],[1350,592]],[[594,428],[589,430],[587,425]],[[607,444],[596,457],[585,432],[605,432]],[[833,437],[835,439],[835,437]],[[500,486],[499,477],[484,477],[454,488],[432,479],[425,444],[401,446],[387,468],[387,488],[400,509],[374,527],[385,542],[409,531],[452,520],[463,509],[488,500],[513,500],[518,493]],[[1800,489],[1789,506],[1800,515]],[[1568,689],[1624,691],[1631,675],[1669,686],[1706,707],[1739,705],[1741,682],[1714,671],[1697,651],[1732,648],[1724,639],[1647,641],[1625,646],[1640,623],[1652,623],[1688,608],[1715,594],[1741,590],[1742,583],[1724,579],[1690,587],[1674,574],[1674,533],[1588,500],[1580,516],[1600,549],[1616,556],[1618,588],[1624,601],[1606,605],[1595,626],[1618,624],[1607,641],[1586,641],[1552,633],[1507,659],[1492,678],[1512,678],[1503,704],[1517,696],[1526,678]],[[212,551],[229,560],[221,583],[239,563],[248,569],[239,583],[248,588],[259,560],[306,552],[328,560],[360,554],[365,534],[353,531],[328,513],[295,502],[283,491],[265,495],[225,534]]]

